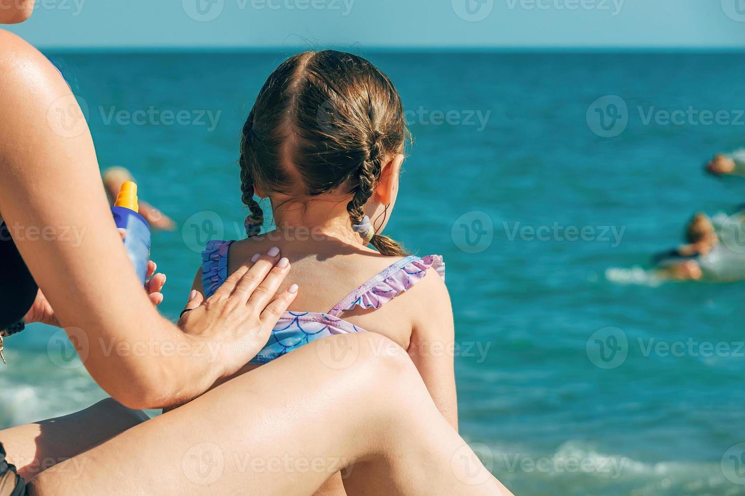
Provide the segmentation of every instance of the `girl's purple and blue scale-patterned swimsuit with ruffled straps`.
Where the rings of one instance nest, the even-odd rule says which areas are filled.
[[[202,252],[202,284],[206,297],[212,296],[228,277],[228,250],[233,242],[210,241],[207,249]],[[266,364],[303,344],[326,336],[364,332],[364,329],[341,320],[338,315],[355,306],[365,309],[380,308],[422,280],[428,268],[434,268],[440,277],[445,277],[445,264],[440,255],[411,255],[390,265],[355,289],[329,312],[285,312],[274,326],[267,345],[250,363]]]

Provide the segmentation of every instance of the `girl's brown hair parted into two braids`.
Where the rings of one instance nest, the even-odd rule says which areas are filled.
[[[398,91],[375,65],[333,50],[291,57],[270,74],[243,127],[238,163],[248,235],[264,220],[255,187],[305,196],[343,188],[350,222],[359,224],[384,160],[409,140]],[[405,254],[388,236],[375,234],[370,244],[381,254]]]

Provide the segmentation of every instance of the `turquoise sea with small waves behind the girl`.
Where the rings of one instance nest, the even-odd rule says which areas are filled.
[[[745,145],[743,55],[361,54],[408,109],[389,231],[445,257],[461,432],[487,466],[516,495],[745,495],[745,283],[609,271],[745,202],[745,178],[702,170]],[[102,167],[179,223],[152,252],[175,318],[199,246],[241,236],[238,132],[288,54],[48,55]],[[7,341],[0,427],[104,396],[55,330]]]

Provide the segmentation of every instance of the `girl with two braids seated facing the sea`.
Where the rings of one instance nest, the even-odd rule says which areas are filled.
[[[210,242],[194,289],[209,297],[242,260],[281,250],[279,265],[292,264],[283,284],[298,283],[304,291],[240,373],[320,338],[377,332],[408,351],[437,407],[457,428],[453,359],[443,352],[454,329],[442,257],[408,255],[382,234],[408,140],[396,88],[367,60],[320,51],[282,63],[261,88],[242,132],[249,237]],[[257,197],[268,199],[276,225],[262,235]],[[353,353],[337,350],[338,363],[329,367],[343,367]],[[324,490],[343,494],[340,477]]]

